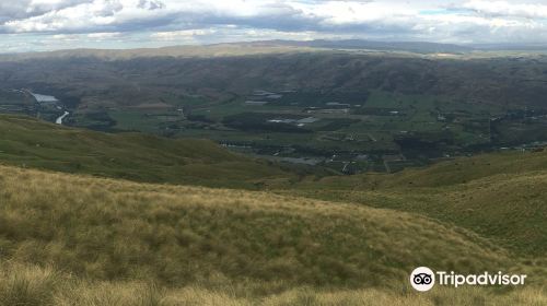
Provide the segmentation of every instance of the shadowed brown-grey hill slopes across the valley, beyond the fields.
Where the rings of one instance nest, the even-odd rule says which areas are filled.
[[[160,97],[168,104],[181,102],[165,93],[218,102],[230,98],[228,93],[246,96],[258,89],[386,91],[509,108],[543,108],[547,92],[547,60],[540,56],[463,60],[307,50],[173,58],[160,50],[149,50],[154,57],[123,52],[129,56],[112,60],[101,51],[98,56],[81,51],[77,57],[0,58],[0,87],[49,93],[82,111],[102,106],[143,107]]]

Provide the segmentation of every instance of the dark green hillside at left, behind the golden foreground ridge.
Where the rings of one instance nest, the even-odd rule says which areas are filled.
[[[69,129],[0,115],[0,162],[138,181],[254,188],[293,175],[211,141]]]

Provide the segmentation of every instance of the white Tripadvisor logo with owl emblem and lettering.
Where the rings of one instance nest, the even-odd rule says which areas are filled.
[[[454,271],[437,271],[434,273],[428,267],[416,268],[410,273],[410,285],[417,291],[430,291],[435,281],[439,285],[458,287],[462,285],[524,285],[527,275],[525,274],[503,274],[484,272],[481,274],[457,274]]]

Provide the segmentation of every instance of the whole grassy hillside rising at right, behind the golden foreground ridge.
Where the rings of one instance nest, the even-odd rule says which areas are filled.
[[[281,192],[419,213],[523,256],[547,255],[547,154],[463,157],[393,175],[327,177]]]

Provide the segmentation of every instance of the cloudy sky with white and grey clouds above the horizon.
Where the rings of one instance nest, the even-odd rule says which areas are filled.
[[[0,52],[278,38],[547,44],[547,0],[0,1]]]

